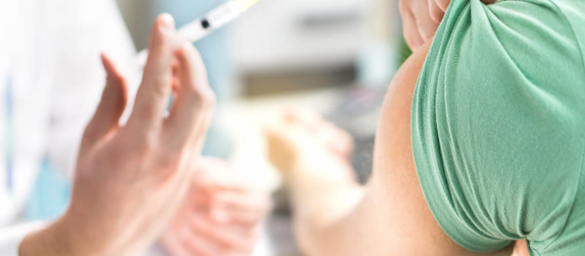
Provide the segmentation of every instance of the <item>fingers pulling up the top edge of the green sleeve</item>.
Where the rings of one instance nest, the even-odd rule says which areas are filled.
[[[481,0],[493,4],[496,0]],[[445,16],[451,0],[400,0],[402,32],[410,49],[417,50],[435,32]]]

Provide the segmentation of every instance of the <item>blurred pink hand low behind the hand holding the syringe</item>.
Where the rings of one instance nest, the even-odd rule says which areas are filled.
[[[173,256],[249,256],[268,193],[250,188],[222,160],[204,158],[183,207],[161,237]]]

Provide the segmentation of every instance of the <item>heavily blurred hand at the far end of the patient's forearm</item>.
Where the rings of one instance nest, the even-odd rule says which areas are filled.
[[[315,113],[283,112],[266,124],[266,134],[269,159],[283,172],[285,180],[290,181],[304,169],[300,166],[309,162],[311,165],[326,165],[318,169],[322,170],[319,175],[328,179],[355,179],[350,165],[352,137]]]

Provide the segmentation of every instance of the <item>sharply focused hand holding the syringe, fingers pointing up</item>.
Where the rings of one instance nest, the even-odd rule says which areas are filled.
[[[128,123],[126,80],[108,57],[104,93],[85,129],[66,213],[29,234],[20,255],[136,255],[176,215],[194,177],[214,94],[197,50],[177,49],[170,15],[154,23],[150,56]],[[176,101],[164,118],[175,88]]]

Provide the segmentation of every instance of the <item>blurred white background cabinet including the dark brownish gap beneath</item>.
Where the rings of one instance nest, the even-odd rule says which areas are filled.
[[[232,27],[247,94],[366,82],[394,74],[397,0],[260,0]]]

